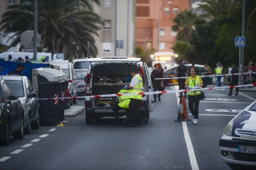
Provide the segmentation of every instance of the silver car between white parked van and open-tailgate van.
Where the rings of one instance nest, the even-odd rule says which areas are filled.
[[[84,96],[85,82],[88,69],[75,69],[75,81],[77,82],[77,96]]]

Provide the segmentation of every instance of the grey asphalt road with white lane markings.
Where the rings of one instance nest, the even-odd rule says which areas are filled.
[[[113,118],[87,125],[83,112],[66,118],[63,127],[41,126],[22,140],[10,137],[9,146],[0,146],[0,169],[229,169],[220,157],[219,138],[229,120],[256,99],[256,92],[205,94],[197,125],[174,122],[178,94],[165,94],[154,103],[148,124],[141,127],[117,126]],[[84,101],[78,100],[77,105]]]

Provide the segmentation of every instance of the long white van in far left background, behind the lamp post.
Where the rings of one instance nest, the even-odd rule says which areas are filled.
[[[11,55],[11,61],[17,61],[19,57],[26,61],[25,57],[28,56],[29,59],[33,59],[33,52],[3,52],[0,54],[0,60],[7,61],[8,56]],[[52,53],[48,52],[37,52],[37,60],[42,62],[52,61]]]

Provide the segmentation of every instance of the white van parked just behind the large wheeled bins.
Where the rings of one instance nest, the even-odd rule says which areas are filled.
[[[72,62],[68,62],[68,60],[63,61],[52,61],[50,64],[59,66],[61,71],[67,75],[68,79],[68,90],[71,97],[77,96],[77,82],[75,82],[75,69],[73,67]],[[77,99],[73,99],[71,105],[73,103],[77,103]]]

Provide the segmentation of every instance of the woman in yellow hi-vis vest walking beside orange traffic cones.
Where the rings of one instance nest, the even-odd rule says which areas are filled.
[[[196,75],[197,72],[196,67],[192,67],[190,69],[190,74],[185,81],[185,88],[199,88],[203,86],[203,80],[200,76]],[[196,124],[198,122],[198,107],[199,101],[201,100],[201,91],[188,91],[188,105],[191,114],[193,115],[193,123]]]

